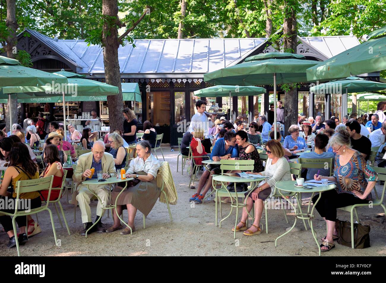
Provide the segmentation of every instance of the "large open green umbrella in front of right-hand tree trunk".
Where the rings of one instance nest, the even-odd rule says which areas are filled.
[[[265,59],[266,56],[273,58]],[[286,52],[274,52],[272,55],[258,54],[247,57],[245,61],[204,74],[204,80],[214,84],[228,85],[273,84],[274,104],[276,105],[276,84],[308,82],[306,69],[319,63],[318,61],[306,60],[303,55],[293,55]],[[276,123],[276,107],[274,107],[274,123]],[[276,131],[274,134],[276,138]]]

